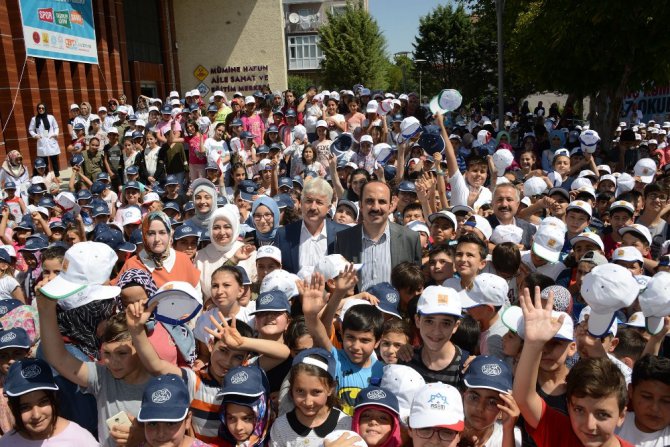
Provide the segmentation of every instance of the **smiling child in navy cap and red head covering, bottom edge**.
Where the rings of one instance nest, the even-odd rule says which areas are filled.
[[[400,447],[400,425],[398,398],[390,390],[376,386],[361,390],[351,429],[369,447]]]

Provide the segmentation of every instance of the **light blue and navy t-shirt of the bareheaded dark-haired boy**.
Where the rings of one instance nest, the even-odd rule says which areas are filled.
[[[343,349],[333,347],[330,352],[337,362],[337,397],[342,403],[342,411],[353,416],[356,396],[363,388],[370,386],[371,378],[382,377],[384,363],[377,360],[376,354],[372,353],[370,366],[362,368],[352,363]]]

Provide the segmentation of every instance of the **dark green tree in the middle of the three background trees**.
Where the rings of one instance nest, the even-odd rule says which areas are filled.
[[[414,58],[427,61],[422,66],[426,94],[455,88],[467,100],[476,100],[490,92],[495,84],[495,44],[478,36],[474,23],[462,5],[440,5],[421,17]]]

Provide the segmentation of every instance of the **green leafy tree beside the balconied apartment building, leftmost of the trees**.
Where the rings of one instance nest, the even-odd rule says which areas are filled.
[[[360,83],[386,89],[386,39],[362,1],[348,2],[344,11],[327,16],[328,23],[319,28],[325,85],[350,89]]]

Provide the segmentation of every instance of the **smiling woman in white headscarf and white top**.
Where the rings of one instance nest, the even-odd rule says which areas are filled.
[[[235,205],[224,205],[212,214],[209,223],[211,244],[195,255],[195,265],[200,270],[200,287],[207,300],[211,297],[212,273],[222,265],[240,265],[249,278],[256,280],[256,253],[253,245],[239,240],[240,212]]]

